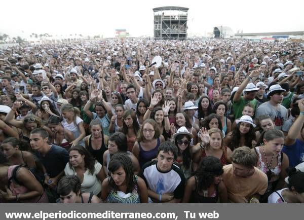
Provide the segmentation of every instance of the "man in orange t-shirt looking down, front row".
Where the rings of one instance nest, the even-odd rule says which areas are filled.
[[[223,181],[232,203],[259,203],[268,187],[265,173],[255,167],[256,155],[247,146],[237,148],[231,155],[232,164],[223,167]]]

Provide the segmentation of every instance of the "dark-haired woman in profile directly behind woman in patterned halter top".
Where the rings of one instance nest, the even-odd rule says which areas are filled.
[[[126,153],[132,161],[134,174],[137,174],[140,170],[139,163],[136,157],[127,149],[127,137],[122,132],[116,132],[109,137],[108,150],[103,154],[103,168],[108,175],[108,166],[110,159],[117,153]]]

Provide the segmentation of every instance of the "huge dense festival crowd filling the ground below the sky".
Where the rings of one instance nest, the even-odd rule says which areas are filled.
[[[0,201],[303,203],[303,69],[293,41],[2,49]]]

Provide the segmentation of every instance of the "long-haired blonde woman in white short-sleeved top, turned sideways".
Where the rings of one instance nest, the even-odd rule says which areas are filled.
[[[63,116],[62,125],[65,129],[71,131],[75,139],[70,142],[71,146],[80,144],[85,145],[83,138],[86,136],[84,122],[79,117],[80,110],[71,104],[64,104],[61,107],[61,114]]]

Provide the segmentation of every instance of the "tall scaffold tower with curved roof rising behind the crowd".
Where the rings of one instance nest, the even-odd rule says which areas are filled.
[[[185,40],[188,8],[166,6],[154,8],[154,39]]]

